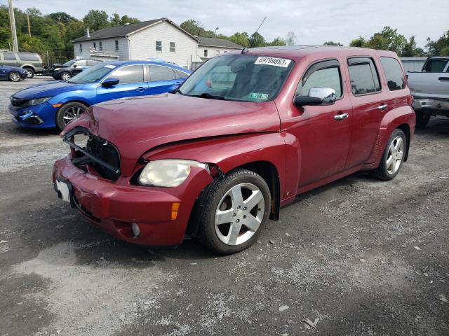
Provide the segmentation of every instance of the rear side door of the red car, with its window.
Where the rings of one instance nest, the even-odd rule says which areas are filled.
[[[349,97],[353,107],[351,147],[346,169],[366,163],[373,152],[380,122],[391,106],[380,85],[379,64],[371,57],[349,57],[347,69],[351,83]]]

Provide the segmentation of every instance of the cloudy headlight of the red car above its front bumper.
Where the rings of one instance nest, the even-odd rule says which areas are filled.
[[[208,165],[192,160],[156,160],[147,163],[139,176],[139,183],[145,186],[177,187],[190,174],[192,167],[209,171]]]

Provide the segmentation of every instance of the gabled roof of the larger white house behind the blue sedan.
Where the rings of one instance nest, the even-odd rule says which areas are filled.
[[[155,20],[148,20],[148,21],[130,23],[129,25],[124,25],[124,26],[103,28],[103,29],[100,29],[100,30],[92,31],[90,37],[87,37],[87,35],[84,35],[84,36],[81,36],[79,38],[75,38],[74,40],[72,40],[72,42],[92,41],[92,40],[101,40],[101,39],[104,39],[104,38],[129,36],[131,34],[136,33],[137,31],[140,31],[140,30],[145,29],[147,27],[156,25],[156,24],[158,24],[160,22],[163,22],[163,21],[169,22],[170,24],[174,25],[178,29],[184,31],[185,34],[189,35],[190,37],[192,37],[196,41],[198,41],[198,38],[196,38],[192,34],[189,34],[187,31],[182,29],[180,26],[176,25],[175,22],[169,20],[168,18],[160,18],[160,19],[155,19]]]

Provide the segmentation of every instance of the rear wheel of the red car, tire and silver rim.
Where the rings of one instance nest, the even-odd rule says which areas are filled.
[[[406,134],[397,129],[391,133],[390,139],[385,147],[380,165],[375,169],[377,179],[389,181],[396,177],[406,158],[407,138]]]

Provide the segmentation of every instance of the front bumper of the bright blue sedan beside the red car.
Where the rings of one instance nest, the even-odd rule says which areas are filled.
[[[58,109],[49,103],[27,106],[16,109],[11,104],[8,111],[13,116],[13,122],[27,128],[53,128],[56,127],[55,118]]]

